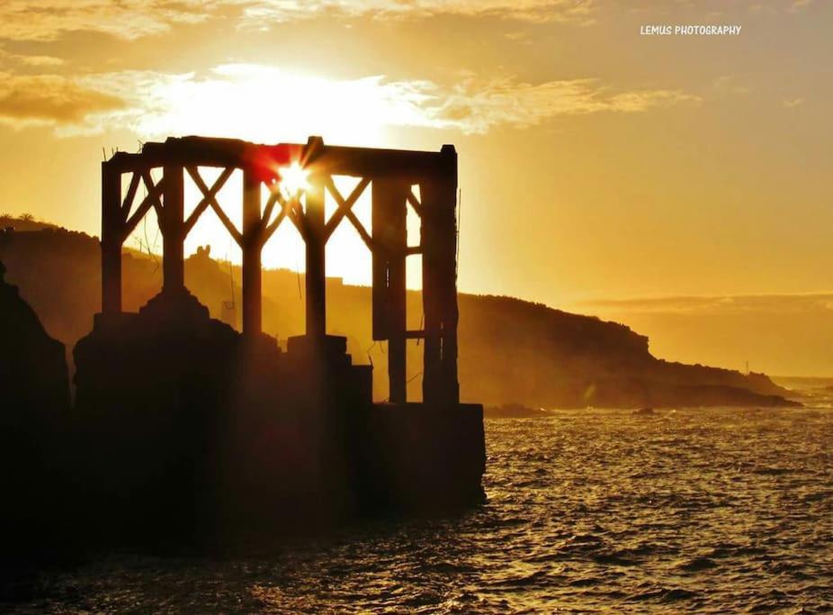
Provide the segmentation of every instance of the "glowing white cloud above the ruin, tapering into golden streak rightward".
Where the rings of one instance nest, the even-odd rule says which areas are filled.
[[[612,93],[590,79],[533,85],[509,78],[469,77],[444,87],[427,80],[381,76],[353,80],[296,76],[251,64],[220,66],[204,79],[157,77],[156,84],[138,87],[122,77],[118,89],[120,95],[150,92],[151,108],[136,126],[148,136],[216,130],[217,118],[224,116],[224,130],[248,138],[257,138],[254,131],[268,132],[270,124],[285,131],[282,124],[292,123],[305,134],[330,133],[344,140],[378,133],[384,126],[482,134],[501,125],[529,127],[560,115],[640,113],[697,100],[669,90]],[[229,115],[229,108],[237,108],[237,113]]]

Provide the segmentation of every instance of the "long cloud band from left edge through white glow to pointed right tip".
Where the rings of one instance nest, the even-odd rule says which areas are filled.
[[[207,134],[248,140],[372,144],[390,127],[483,134],[559,116],[643,113],[699,99],[672,90],[615,91],[594,79],[518,82],[466,77],[453,86],[382,76],[331,79],[256,64],[207,75],[122,71],[84,77],[7,76],[0,116],[51,123],[60,135],[128,129],[142,139]]]

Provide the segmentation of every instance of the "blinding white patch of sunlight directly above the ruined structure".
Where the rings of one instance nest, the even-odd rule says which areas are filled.
[[[225,64],[206,75],[145,76],[151,107],[135,118],[145,139],[183,134],[303,143],[310,134],[328,143],[386,145],[389,126],[431,124],[426,95],[384,77],[339,79],[295,74],[259,64]],[[124,95],[137,76],[123,79]],[[287,93],[293,93],[287,95]]]

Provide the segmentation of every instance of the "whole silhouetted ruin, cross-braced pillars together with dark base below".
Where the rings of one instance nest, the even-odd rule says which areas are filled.
[[[196,531],[241,518],[331,520],[480,501],[482,407],[460,403],[457,379],[456,158],[448,145],[416,152],[186,137],[103,162],[102,312],[75,350],[89,497],[146,528],[166,518]],[[293,191],[282,176],[291,165],[307,176]],[[212,185],[202,167],[221,169]],[[239,230],[218,202],[237,169]],[[186,175],[202,193],[188,216]],[[335,176],[359,182],[345,197]],[[371,230],[352,211],[365,190]],[[328,220],[326,192],[337,203]],[[408,206],[421,220],[418,246],[408,246]],[[122,312],[122,244],[151,210],[163,289],[139,313]],[[185,288],[184,240],[209,210],[242,250],[242,335],[211,320]],[[386,403],[372,402],[372,367],[354,366],[346,339],[327,335],[325,247],[345,221],[372,253],[372,334],[389,348]],[[261,253],[281,223],[294,224],[306,246],[306,333],[285,353],[262,331],[261,305]],[[405,264],[416,254],[425,325],[408,330]],[[408,339],[424,340],[421,403],[407,399]]]

